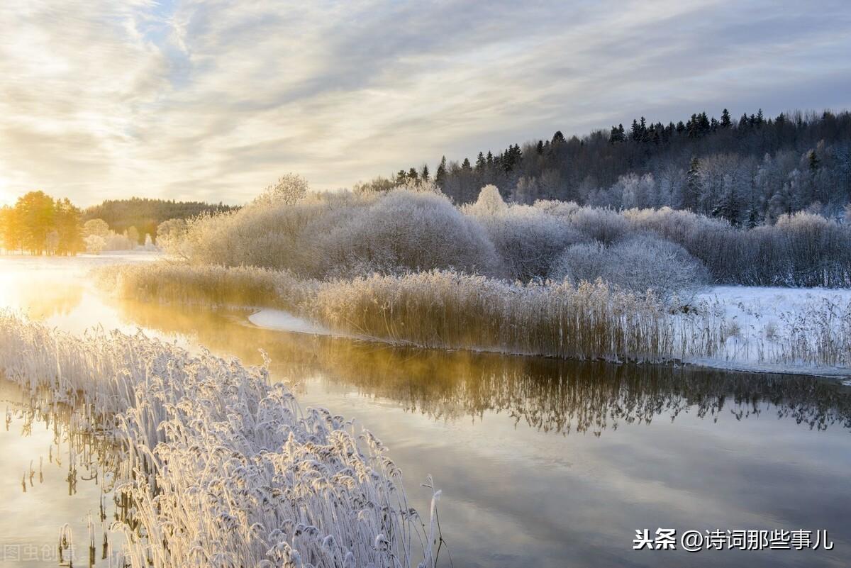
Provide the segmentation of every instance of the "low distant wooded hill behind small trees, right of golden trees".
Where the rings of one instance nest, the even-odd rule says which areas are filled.
[[[110,229],[123,233],[130,227],[156,237],[157,225],[168,219],[188,219],[200,213],[230,211],[236,207],[221,203],[175,202],[163,199],[109,199],[83,212],[83,219],[103,219]]]

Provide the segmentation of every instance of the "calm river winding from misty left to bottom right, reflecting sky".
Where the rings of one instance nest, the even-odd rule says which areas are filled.
[[[435,475],[456,566],[846,565],[851,389],[836,383],[443,354],[270,332],[250,327],[244,312],[119,303],[88,287],[80,270],[33,260],[38,270],[21,271],[24,261],[0,259],[0,298],[38,306],[33,315],[51,325],[72,332],[95,324],[141,327],[252,364],[265,349],[274,375],[297,383],[303,406],[357,417],[386,442],[422,510],[427,493],[419,484]],[[49,293],[33,295],[37,289]],[[3,435],[0,443],[4,456],[26,456],[33,441]],[[39,451],[29,453],[37,460]],[[9,469],[4,497],[20,491],[23,469],[17,462]],[[5,460],[2,471],[7,475]],[[14,498],[15,508],[26,507]],[[40,520],[27,512],[16,525],[53,543],[67,515],[84,516],[77,508],[96,508],[96,497],[90,503],[52,508]],[[4,503],[4,518],[15,508]],[[25,530],[31,523],[47,528]],[[635,529],[660,526],[827,529],[836,548],[631,550]]]

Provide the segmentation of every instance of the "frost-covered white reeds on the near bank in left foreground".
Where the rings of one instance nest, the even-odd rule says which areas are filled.
[[[409,506],[380,441],[302,411],[265,366],[0,312],[0,372],[114,437],[133,566],[435,563],[435,525]]]

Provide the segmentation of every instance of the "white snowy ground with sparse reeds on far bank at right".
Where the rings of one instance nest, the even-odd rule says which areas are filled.
[[[722,355],[691,358],[702,366],[741,371],[851,376],[848,366],[813,366],[807,361],[777,363],[803,346],[825,344],[848,333],[851,289],[717,286],[695,298],[726,327]],[[825,335],[825,330],[830,330]],[[842,355],[842,354],[840,354]],[[848,360],[848,353],[844,354]]]

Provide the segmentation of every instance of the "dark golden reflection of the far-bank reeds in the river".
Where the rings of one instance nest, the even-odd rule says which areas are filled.
[[[248,363],[259,363],[263,349],[277,377],[320,374],[437,419],[502,412],[534,429],[599,435],[680,412],[717,420],[728,409],[737,420],[772,412],[814,429],[851,429],[851,389],[812,377],[401,349],[257,329],[227,310],[135,302],[119,309],[138,325],[190,335]]]

